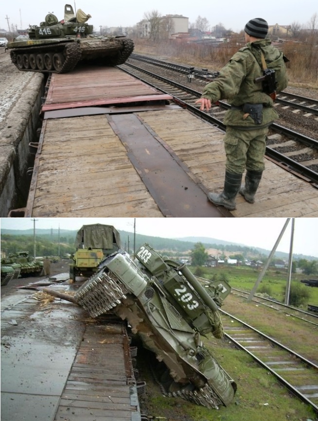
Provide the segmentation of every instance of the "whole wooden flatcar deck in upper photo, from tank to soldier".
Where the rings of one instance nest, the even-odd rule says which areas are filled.
[[[224,132],[121,68],[53,74],[42,117],[25,217],[318,216],[317,189],[270,159],[254,204],[210,203]]]

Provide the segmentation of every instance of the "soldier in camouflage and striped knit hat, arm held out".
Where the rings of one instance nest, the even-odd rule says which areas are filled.
[[[275,70],[277,91],[288,84],[285,61],[281,51],[271,46],[265,39],[268,31],[267,22],[258,17],[251,19],[245,26],[246,47],[241,48],[229,63],[224,66],[220,75],[203,90],[200,109],[207,111],[212,102],[227,99],[231,108],[227,111],[224,124],[226,135],[224,145],[226,152],[226,173],[222,193],[209,193],[208,199],[216,205],[235,209],[235,197],[240,192],[245,200],[254,203],[254,196],[262,172],[265,168],[264,154],[268,126],[278,118],[273,108],[272,98],[263,91],[262,82],[255,78],[262,77],[264,65]],[[245,171],[245,185],[241,186],[242,174]]]

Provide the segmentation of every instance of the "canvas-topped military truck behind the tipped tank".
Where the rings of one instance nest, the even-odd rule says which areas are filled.
[[[73,282],[77,275],[93,275],[105,256],[121,248],[121,239],[112,225],[92,224],[81,227],[75,244],[76,252],[70,264],[70,278]]]

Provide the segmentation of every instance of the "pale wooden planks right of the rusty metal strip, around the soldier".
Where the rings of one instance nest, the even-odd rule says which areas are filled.
[[[210,191],[222,191],[225,174],[224,134],[180,110],[150,111],[139,116],[165,141]],[[197,150],[195,150],[197,147]],[[317,217],[318,190],[265,159],[254,204],[241,195],[235,217]]]

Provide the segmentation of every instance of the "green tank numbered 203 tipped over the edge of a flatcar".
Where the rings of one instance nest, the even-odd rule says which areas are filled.
[[[226,281],[202,284],[186,265],[144,244],[136,259],[124,251],[106,257],[74,298],[92,317],[113,312],[128,321],[156,354],[167,395],[218,408],[230,404],[236,384],[201,335],[223,337],[218,308],[229,293]]]

